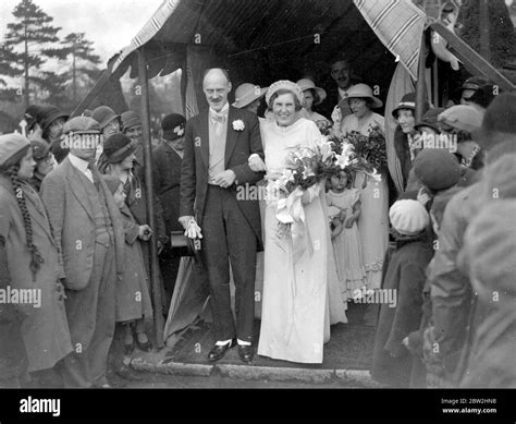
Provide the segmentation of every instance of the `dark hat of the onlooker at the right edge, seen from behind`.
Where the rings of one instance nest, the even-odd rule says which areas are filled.
[[[475,141],[484,148],[491,148],[516,136],[516,94],[502,93],[489,105],[483,116],[482,126],[476,133]]]

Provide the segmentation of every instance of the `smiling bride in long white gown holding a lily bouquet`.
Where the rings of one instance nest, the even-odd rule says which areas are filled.
[[[290,81],[272,84],[266,96],[272,119],[261,122],[269,184],[285,168],[290,149],[315,148],[321,142],[317,125],[299,111],[304,95]],[[249,158],[255,170],[263,163]],[[269,198],[265,216],[265,276],[258,354],[299,363],[321,363],[330,324],[346,323],[330,242],[323,184],[305,191],[305,222],[279,231],[278,198]],[[308,244],[307,244],[308,243]]]

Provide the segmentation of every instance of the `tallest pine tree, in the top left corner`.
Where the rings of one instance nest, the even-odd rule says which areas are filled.
[[[24,77],[25,106],[29,104],[32,83],[40,85],[45,74],[38,75],[49,58],[64,59],[64,50],[53,45],[59,41],[60,27],[50,23],[53,17],[45,13],[32,0],[22,0],[13,11],[16,22],[8,24],[4,46],[0,49],[0,62],[4,74]],[[16,49],[17,47],[17,49]],[[21,51],[20,51],[21,50]]]

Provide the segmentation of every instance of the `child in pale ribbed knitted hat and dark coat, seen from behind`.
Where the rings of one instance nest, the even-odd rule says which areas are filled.
[[[403,340],[419,328],[425,269],[433,250],[428,243],[429,215],[419,202],[395,202],[389,211],[396,249],[383,275],[382,290],[391,290],[396,303],[381,304],[374,338],[371,376],[393,387],[407,387],[413,358]]]

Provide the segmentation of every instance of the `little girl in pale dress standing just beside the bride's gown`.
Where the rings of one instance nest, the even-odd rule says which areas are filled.
[[[346,170],[340,170],[331,177],[327,201],[330,210],[333,210],[330,216],[331,237],[341,290],[347,292],[348,299],[356,299],[363,292],[366,278],[357,227],[360,191],[352,187],[352,178]]]

